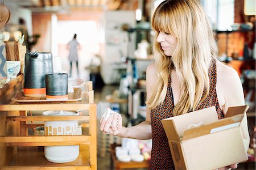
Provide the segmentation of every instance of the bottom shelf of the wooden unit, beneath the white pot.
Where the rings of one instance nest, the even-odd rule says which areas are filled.
[[[89,169],[90,168],[90,155],[89,145],[80,146],[79,158],[69,163],[51,163],[44,157],[44,151],[38,147],[19,147],[18,152],[14,155],[13,162],[8,167],[2,169]]]

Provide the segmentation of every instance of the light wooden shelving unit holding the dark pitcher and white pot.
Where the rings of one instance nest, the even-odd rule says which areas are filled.
[[[11,97],[22,89],[23,75],[0,89],[0,169],[97,169],[96,104],[92,82],[86,82],[82,100],[73,102],[15,103]],[[30,116],[30,111],[83,110],[79,116]],[[30,121],[68,121],[82,123],[82,135],[34,136]],[[37,146],[80,145],[73,162],[51,163]]]

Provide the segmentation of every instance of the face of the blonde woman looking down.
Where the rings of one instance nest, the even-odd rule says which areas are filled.
[[[159,32],[159,35],[158,35],[156,41],[160,43],[161,48],[162,48],[164,54],[166,54],[166,56],[171,57],[172,54],[174,54],[174,50],[177,45],[177,40],[174,36],[161,31],[161,32]]]

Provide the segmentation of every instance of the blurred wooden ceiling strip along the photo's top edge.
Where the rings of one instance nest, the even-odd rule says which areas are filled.
[[[0,0],[0,2],[4,0]],[[7,0],[32,12],[54,12],[70,8],[92,8],[117,10],[122,3],[134,0]]]

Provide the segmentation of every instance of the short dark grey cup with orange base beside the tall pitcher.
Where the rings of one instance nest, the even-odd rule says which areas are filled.
[[[67,100],[68,99],[68,74],[51,73],[46,74],[46,99]]]

